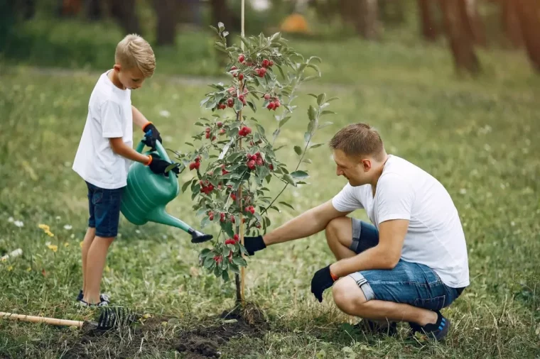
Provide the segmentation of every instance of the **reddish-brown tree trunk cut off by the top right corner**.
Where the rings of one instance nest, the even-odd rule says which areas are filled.
[[[527,54],[534,68],[540,72],[540,5],[537,0],[513,0],[522,30]]]

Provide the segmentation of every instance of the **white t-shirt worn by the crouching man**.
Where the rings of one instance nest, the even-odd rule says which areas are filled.
[[[450,194],[428,172],[403,158],[389,155],[377,182],[349,183],[333,198],[338,211],[365,209],[377,228],[391,219],[408,219],[401,259],[434,270],[448,287],[469,285],[465,234]]]

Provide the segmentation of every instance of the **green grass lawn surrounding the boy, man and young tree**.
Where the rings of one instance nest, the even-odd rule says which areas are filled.
[[[372,50],[365,56],[374,59]],[[509,63],[497,66],[508,69],[504,78],[515,86],[497,79],[458,82],[450,76],[450,62],[441,65],[438,82],[432,77],[435,67],[411,72],[413,64],[427,56],[414,54],[401,62],[404,65],[396,62],[395,84],[392,70],[383,72],[376,63],[363,71],[384,74],[386,81],[373,75],[360,86],[313,82],[318,92],[340,97],[330,106],[338,112],[331,119],[335,125],[321,130],[315,141],[328,141],[347,123],[366,121],[379,128],[389,153],[420,165],[446,186],[465,228],[471,279],[463,296],[443,311],[453,322],[448,340],[409,340],[402,324],[396,338],[366,336],[351,330],[348,324],[357,319],[340,313],[330,291],[319,304],[309,289],[311,277],[333,260],[319,233],[268,248],[249,260],[246,296],[264,310],[269,326],[257,335],[220,342],[222,358],[540,355],[540,109],[538,90],[529,84],[536,80],[525,75],[529,70],[523,70],[523,60],[509,57]],[[392,56],[385,55],[384,61],[391,62]],[[322,57],[328,64],[330,53]],[[80,309],[74,301],[81,285],[87,197],[85,183],[71,165],[97,74],[55,77],[25,67],[4,70],[0,255],[16,248],[23,255],[0,263],[0,311],[92,319],[95,312]],[[333,77],[335,72],[327,70],[330,74],[323,76]],[[166,147],[187,150],[183,143],[198,130],[193,123],[204,114],[199,102],[207,89],[161,76],[134,92],[132,101],[157,124]],[[304,94],[308,92],[311,89]],[[311,100],[301,96],[298,104],[306,107]],[[162,116],[163,111],[170,116]],[[297,112],[279,140],[288,145],[278,152],[288,165],[296,164],[293,145],[303,141],[306,126],[306,111]],[[273,131],[273,118],[266,112],[259,116],[266,132]],[[137,131],[134,140],[140,136]],[[335,176],[327,147],[313,150],[310,158],[311,184],[284,192],[282,199],[295,210],[271,214],[274,228],[330,199],[345,184]],[[185,175],[178,180],[183,183]],[[278,188],[271,183],[271,189]],[[185,193],[168,211],[198,227],[200,219],[190,207]],[[367,219],[362,211],[354,215]],[[40,223],[50,226],[55,236],[47,236]],[[214,333],[212,318],[234,306],[234,284],[223,284],[198,267],[204,245],[193,245],[175,228],[152,223],[137,227],[124,219],[120,233],[109,252],[102,289],[115,304],[149,314],[152,329],[83,338],[69,328],[0,321],[1,358],[76,358],[77,353],[85,358],[181,358],[186,353],[175,348],[188,343],[186,332],[196,330],[200,338]],[[201,358],[188,354],[185,358]]]

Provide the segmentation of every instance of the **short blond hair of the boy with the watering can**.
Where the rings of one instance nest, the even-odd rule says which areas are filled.
[[[118,43],[114,61],[126,69],[139,67],[144,77],[151,77],[156,70],[156,57],[150,44],[135,33],[126,35]]]

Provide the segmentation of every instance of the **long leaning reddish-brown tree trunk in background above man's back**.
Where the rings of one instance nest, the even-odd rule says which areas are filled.
[[[441,0],[446,36],[454,57],[458,73],[467,70],[471,74],[480,72],[480,62],[473,48],[473,38],[468,33],[468,19],[463,17],[466,0]]]

